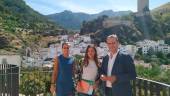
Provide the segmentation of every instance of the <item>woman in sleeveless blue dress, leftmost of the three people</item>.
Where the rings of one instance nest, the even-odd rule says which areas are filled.
[[[63,54],[54,59],[50,91],[56,93],[56,96],[74,96],[74,60],[69,56],[68,43],[62,44],[62,52]]]

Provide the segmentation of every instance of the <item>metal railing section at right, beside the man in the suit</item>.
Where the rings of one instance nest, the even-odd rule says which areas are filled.
[[[134,96],[170,96],[170,85],[137,77],[133,81]]]

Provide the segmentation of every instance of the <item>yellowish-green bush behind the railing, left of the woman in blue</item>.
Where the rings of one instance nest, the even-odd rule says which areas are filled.
[[[50,72],[40,72],[38,69],[34,71],[32,68],[24,69],[22,72],[19,86],[20,93],[26,96],[37,96],[37,94],[49,92]],[[48,89],[46,89],[47,87]]]

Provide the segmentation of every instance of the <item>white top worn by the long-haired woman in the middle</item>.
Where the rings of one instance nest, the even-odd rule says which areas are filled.
[[[97,66],[93,60],[89,60],[88,66],[83,66],[82,79],[95,81],[97,76]]]

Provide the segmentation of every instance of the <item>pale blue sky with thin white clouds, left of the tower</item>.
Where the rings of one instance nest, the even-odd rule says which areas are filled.
[[[103,10],[131,10],[119,0],[25,0],[28,5],[42,14],[58,13],[63,10],[73,12],[98,13]],[[132,6],[128,6],[131,8]],[[132,8],[133,9],[133,8]]]

